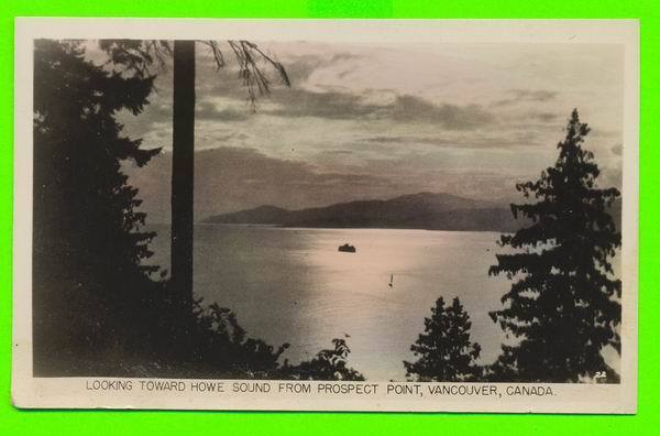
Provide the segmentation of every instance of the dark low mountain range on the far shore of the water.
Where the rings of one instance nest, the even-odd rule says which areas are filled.
[[[520,227],[513,218],[508,205],[432,193],[404,195],[388,200],[339,203],[299,210],[260,206],[215,215],[202,222],[502,232],[514,231]]]

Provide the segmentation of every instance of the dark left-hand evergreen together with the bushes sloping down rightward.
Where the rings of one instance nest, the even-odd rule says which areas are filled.
[[[101,46],[121,64],[125,52]],[[309,362],[283,364],[286,344],[250,338],[229,308],[190,307],[166,272],[154,277],[158,266],[146,262],[155,235],[143,230],[121,163],[145,165],[160,149],[123,137],[117,121],[148,105],[154,78],[130,65],[95,65],[74,41],[35,42],[34,374],[361,377],[348,368],[343,340]]]

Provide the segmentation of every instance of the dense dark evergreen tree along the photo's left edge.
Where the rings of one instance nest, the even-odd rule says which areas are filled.
[[[158,152],[121,134],[116,115],[148,103],[153,76],[110,72],[76,42],[35,41],[33,337],[36,373],[87,371],[124,349],[125,328],[160,284],[150,280],[144,214],[120,162]],[[142,302],[142,303],[141,303]],[[105,355],[101,355],[105,356]],[[111,366],[111,358],[106,356]],[[116,363],[116,362],[114,362]]]

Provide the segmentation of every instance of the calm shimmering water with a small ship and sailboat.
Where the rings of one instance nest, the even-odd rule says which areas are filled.
[[[154,263],[169,265],[169,228],[156,227]],[[198,225],[195,293],[232,308],[249,335],[308,359],[350,335],[350,363],[371,380],[404,380],[403,360],[439,296],[459,296],[482,362],[505,340],[488,317],[510,282],[487,275],[497,233],[284,229]],[[356,253],[338,246],[349,242]],[[388,283],[394,276],[393,286]]]

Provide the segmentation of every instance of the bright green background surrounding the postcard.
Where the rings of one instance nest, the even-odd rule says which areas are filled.
[[[0,435],[8,434],[420,434],[620,435],[660,430],[660,297],[652,283],[660,238],[659,0],[0,0]],[[11,244],[14,17],[640,19],[639,412],[635,416],[19,411],[11,405]],[[21,146],[18,144],[18,146]],[[21,171],[21,168],[16,168]],[[19,240],[20,243],[20,240]]]

